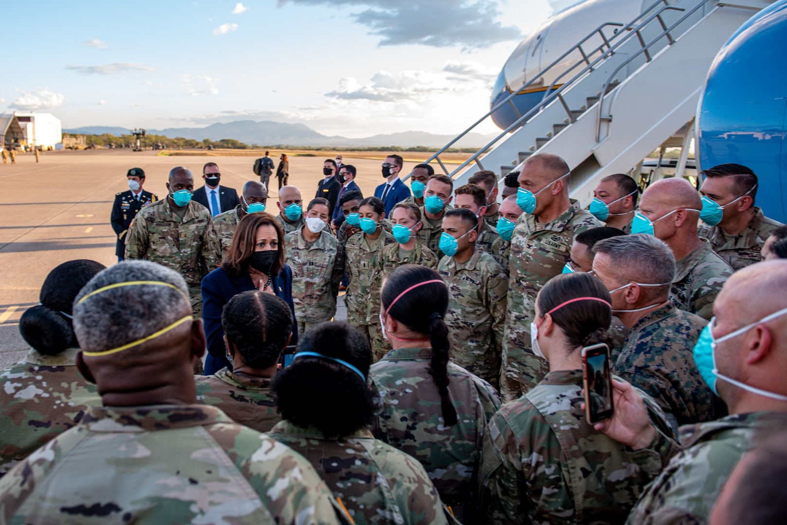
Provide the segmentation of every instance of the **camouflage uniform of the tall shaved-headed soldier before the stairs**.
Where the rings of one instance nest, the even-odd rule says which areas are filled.
[[[535,301],[549,279],[563,272],[575,235],[602,224],[571,199],[568,209],[549,223],[523,213],[516,221],[508,259],[508,310],[505,316],[501,394],[512,401],[549,372],[546,360],[530,350]]]

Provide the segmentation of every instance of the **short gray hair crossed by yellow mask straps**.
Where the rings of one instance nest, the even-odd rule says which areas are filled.
[[[110,288],[80,299],[99,288],[131,281],[157,284]],[[79,346],[91,352],[123,346],[167,327],[191,312],[189,289],[179,273],[150,261],[127,261],[98,273],[74,300],[74,332]]]

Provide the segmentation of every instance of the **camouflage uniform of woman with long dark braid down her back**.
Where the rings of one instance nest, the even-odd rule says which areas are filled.
[[[369,376],[382,402],[376,432],[423,465],[443,503],[461,521],[463,506],[475,493],[484,429],[500,408],[500,397],[489,383],[449,361],[456,424],[444,427],[438,386],[429,372],[431,353],[429,347],[393,349],[371,365]]]

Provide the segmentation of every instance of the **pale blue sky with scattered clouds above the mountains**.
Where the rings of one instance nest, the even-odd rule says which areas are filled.
[[[515,46],[575,0],[47,2],[3,27],[0,112],[65,128],[302,123],[456,133]],[[493,131],[493,128],[482,131]]]

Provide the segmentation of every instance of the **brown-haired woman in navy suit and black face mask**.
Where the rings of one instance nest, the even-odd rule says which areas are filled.
[[[231,367],[224,344],[221,312],[233,296],[249,290],[274,294],[290,305],[295,319],[293,274],[284,264],[284,231],[270,213],[249,213],[235,228],[224,262],[202,279],[202,320],[208,338],[205,375]],[[290,345],[297,343],[293,324]]]

